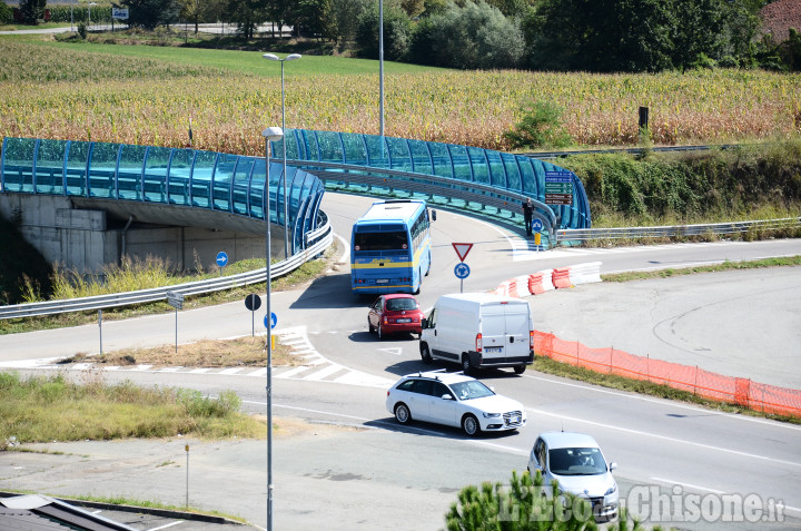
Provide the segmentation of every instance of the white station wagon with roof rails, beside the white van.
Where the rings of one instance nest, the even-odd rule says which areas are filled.
[[[462,427],[471,436],[517,430],[526,423],[523,404],[463,373],[407,374],[387,390],[386,407],[400,424],[434,422]]]

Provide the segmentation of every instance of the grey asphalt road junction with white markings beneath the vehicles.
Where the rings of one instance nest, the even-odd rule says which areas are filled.
[[[347,238],[353,219],[368,203],[327,194],[324,209],[337,234]],[[434,224],[434,239],[436,268],[423,286],[424,307],[442,293],[458,291],[451,242],[476,244],[467,258],[473,273],[466,291],[490,289],[516,275],[582,262],[601,260],[602,272],[614,272],[801,254],[798,240],[533,253],[516,230],[446,212]],[[308,529],[320,522],[332,529],[397,529],[398,522],[409,529],[442,528],[461,486],[507,481],[511,470],[525,469],[537,433],[561,429],[595,436],[620,465],[615,476],[621,495],[633,512],[651,517],[649,523],[680,529],[801,528],[801,429],[793,425],[532,371],[522,376],[491,371],[482,380],[526,406],[528,425],[518,434],[472,441],[433,425],[397,426],[384,410],[386,386],[423,367],[417,342],[378,342],[369,335],[370,301],[350,295],[347,278],[345,266],[305,289],[274,293],[278,332],[309,356],[306,371],[276,370],[274,411],[281,419],[312,423],[276,439],[277,529]],[[528,299],[541,327],[565,338],[652,357],[675,356],[688,364],[710,363],[721,372],[736,371],[767,383],[785,378],[798,386],[801,373],[792,362],[801,343],[793,302],[800,284],[800,268],[782,268],[583,285]],[[250,315],[241,303],[184,311],[178,323],[180,342],[250,333]],[[31,360],[92,353],[98,351],[98,336],[97,325],[2,336],[0,361],[6,366],[36,366],[44,362]],[[106,351],[174,341],[172,314],[103,324]],[[233,389],[248,410],[266,407],[264,372],[141,367],[107,372],[105,377],[189,386],[209,394]],[[56,443],[43,445],[46,454],[0,454],[0,489],[117,494],[181,505],[184,444],[180,437]],[[190,504],[264,527],[266,444],[191,441],[190,448]],[[715,514],[726,500],[735,505],[740,501],[733,517],[743,517],[741,521]],[[761,512],[744,514],[744,507]],[[668,513],[656,514],[660,509]],[[181,525],[171,529],[194,529]]]

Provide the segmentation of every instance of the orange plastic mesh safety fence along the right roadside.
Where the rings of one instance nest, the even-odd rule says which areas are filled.
[[[724,376],[690,365],[636,356],[614,348],[590,348],[553,334],[534,332],[534,352],[604,374],[666,385],[764,413],[801,416],[801,391]]]

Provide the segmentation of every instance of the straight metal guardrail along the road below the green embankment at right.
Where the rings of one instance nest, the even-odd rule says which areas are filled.
[[[705,234],[724,235],[799,227],[801,227],[801,217],[659,227],[575,228],[556,230],[556,243],[586,239],[702,236]]]

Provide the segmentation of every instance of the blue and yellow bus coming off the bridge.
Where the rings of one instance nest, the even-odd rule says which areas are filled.
[[[350,234],[354,293],[419,293],[431,271],[429,226],[423,200],[374,203]]]

